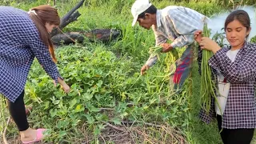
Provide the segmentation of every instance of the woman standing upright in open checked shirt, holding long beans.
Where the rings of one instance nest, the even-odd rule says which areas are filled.
[[[230,46],[222,49],[210,38],[202,37],[202,31],[194,35],[202,50],[214,53],[208,63],[216,76],[220,106],[212,102],[210,114],[202,110],[200,115],[207,123],[217,115],[224,144],[250,144],[256,127],[256,45],[246,42],[250,17],[244,10],[235,10],[226,18],[224,28]]]

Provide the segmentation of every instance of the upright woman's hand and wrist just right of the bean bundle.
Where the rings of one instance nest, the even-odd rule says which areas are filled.
[[[214,42],[213,40],[207,37],[202,37],[199,46],[201,47],[202,50],[210,50],[214,52],[214,54],[221,49],[221,47],[218,46],[218,43]]]

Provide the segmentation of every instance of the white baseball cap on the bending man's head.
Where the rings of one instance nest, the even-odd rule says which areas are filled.
[[[134,16],[134,21],[131,26],[134,26],[137,22],[138,15],[142,14],[145,10],[147,10],[152,4],[149,0],[136,0],[131,6],[131,14]]]

